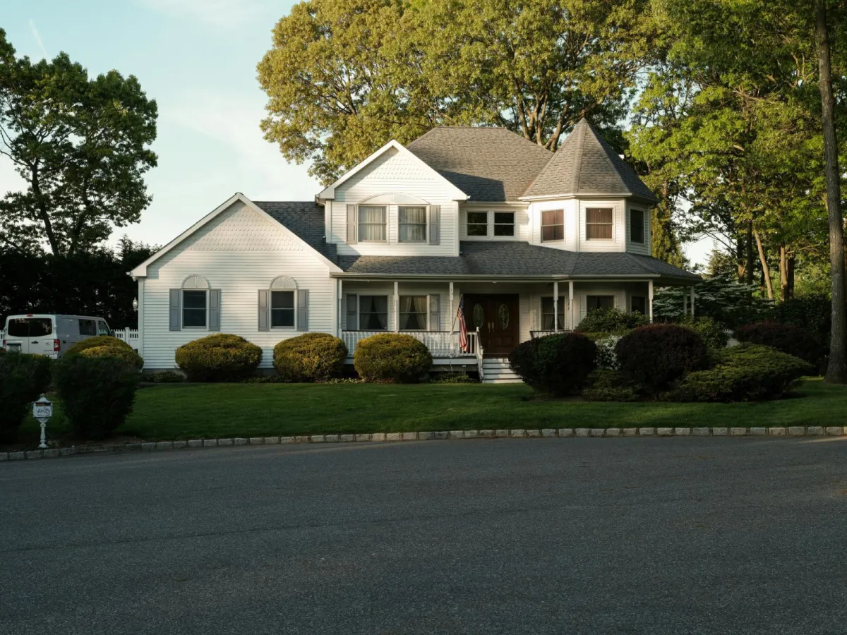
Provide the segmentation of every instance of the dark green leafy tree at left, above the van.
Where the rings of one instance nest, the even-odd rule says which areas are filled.
[[[0,200],[3,246],[73,256],[136,223],[151,200],[156,118],[134,76],[91,79],[65,53],[17,58],[0,30],[0,153],[25,180]]]

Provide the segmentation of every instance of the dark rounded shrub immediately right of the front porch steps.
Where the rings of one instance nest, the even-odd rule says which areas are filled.
[[[581,333],[522,342],[509,355],[512,370],[533,389],[561,397],[578,393],[595,368],[597,346]]]

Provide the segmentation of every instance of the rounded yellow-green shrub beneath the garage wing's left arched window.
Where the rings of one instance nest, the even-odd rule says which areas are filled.
[[[176,364],[191,382],[234,382],[250,377],[262,349],[239,335],[219,333],[180,346]]]

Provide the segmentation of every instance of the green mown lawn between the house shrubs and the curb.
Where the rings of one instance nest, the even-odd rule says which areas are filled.
[[[202,439],[462,428],[847,425],[847,388],[811,379],[764,403],[589,403],[536,398],[523,384],[163,384],[138,391],[119,436]],[[37,437],[28,420],[21,441]],[[66,433],[60,412],[50,424]]]

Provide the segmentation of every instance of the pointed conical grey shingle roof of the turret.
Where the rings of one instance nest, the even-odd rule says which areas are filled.
[[[635,170],[585,119],[574,126],[523,198],[579,194],[617,194],[657,201]]]

